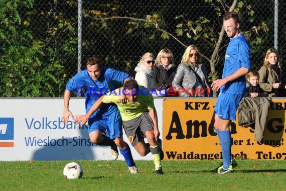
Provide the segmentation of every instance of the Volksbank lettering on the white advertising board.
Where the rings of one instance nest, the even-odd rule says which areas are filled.
[[[47,130],[53,130],[53,129],[76,129],[76,126],[72,121],[68,121],[67,125],[61,120],[59,117],[57,120],[49,120],[47,117],[43,117],[42,119],[27,119],[25,118],[25,122],[28,129],[47,129]],[[84,126],[81,126],[79,124],[79,129],[88,128],[88,126],[85,124]]]

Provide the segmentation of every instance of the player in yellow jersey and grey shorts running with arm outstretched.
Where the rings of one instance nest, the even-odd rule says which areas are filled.
[[[122,93],[127,99],[125,103],[119,103],[119,96]],[[155,173],[163,174],[160,158],[163,152],[159,139],[157,112],[154,107],[153,96],[148,89],[143,86],[139,87],[136,80],[130,79],[124,83],[123,88],[115,89],[99,98],[85,115],[76,116],[74,122],[85,124],[89,116],[103,103],[117,105],[125,134],[130,143],[141,156],[146,156],[151,151],[155,163]],[[145,137],[150,145],[150,150],[144,141]]]

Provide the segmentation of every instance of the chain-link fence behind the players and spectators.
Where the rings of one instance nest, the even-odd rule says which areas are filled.
[[[145,52],[152,52],[157,56],[161,49],[169,48],[174,54],[174,64],[178,65],[186,47],[191,44],[198,46],[203,54],[203,63],[207,67],[211,81],[212,75],[220,77],[222,74],[225,49],[229,42],[225,34],[217,54],[214,51],[222,30],[222,16],[232,9],[231,6],[234,4],[234,11],[238,11],[241,16],[242,32],[251,46],[253,68],[259,69],[262,66],[266,50],[274,46],[275,32],[278,37],[276,46],[282,64],[286,51],[284,43],[286,25],[283,14],[286,9],[285,1],[45,0],[33,3],[32,0],[23,0],[23,2],[26,4],[30,2],[31,6],[24,3],[18,6],[21,24],[17,30],[23,36],[29,32],[30,36],[27,35],[27,41],[19,39],[18,43],[26,43],[27,46],[29,43],[32,44],[30,50],[32,53],[39,43],[40,50],[24,55],[30,56],[31,59],[23,61],[24,66],[21,67],[26,69],[21,68],[22,73],[16,73],[17,68],[19,69],[17,66],[10,71],[12,72],[10,77],[3,79],[8,88],[14,88],[10,94],[2,93],[4,97],[63,96],[66,82],[78,71],[78,58],[81,59],[79,61],[82,64],[81,69],[84,69],[87,58],[96,55],[105,65],[134,75],[134,67]],[[79,4],[82,11],[78,10]],[[278,8],[276,20],[275,5]],[[82,18],[79,20],[78,14],[81,12]],[[277,31],[274,30],[275,21],[278,24]],[[82,26],[80,30],[78,30],[79,25]],[[11,28],[8,26],[7,29]],[[81,40],[82,45],[79,57],[78,40]],[[3,46],[10,45],[7,42],[3,43]],[[14,55],[11,51],[9,54],[11,54],[9,56]],[[6,55],[2,48],[2,61]],[[18,55],[18,58],[20,59],[21,55]],[[211,63],[215,65],[216,74],[210,69]],[[9,71],[5,71],[5,74],[7,73]],[[16,82],[11,81],[11,76],[15,75],[17,78],[16,74],[18,76],[21,74],[23,77],[21,76]],[[30,77],[35,79],[29,81]],[[39,78],[41,82],[37,82]],[[43,83],[45,80],[47,82]],[[24,85],[31,86],[35,82],[38,85],[45,85],[46,93],[42,93],[43,90],[36,87],[25,90]],[[15,86],[14,83],[23,83],[23,86]],[[17,88],[20,88],[20,93],[13,93],[18,91]]]

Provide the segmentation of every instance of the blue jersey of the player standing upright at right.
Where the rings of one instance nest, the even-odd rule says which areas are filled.
[[[239,68],[251,68],[250,48],[244,35],[230,39],[229,45],[225,52],[225,61],[222,78],[233,74]],[[229,81],[220,90],[223,93],[244,94],[245,77],[241,76],[233,81]]]

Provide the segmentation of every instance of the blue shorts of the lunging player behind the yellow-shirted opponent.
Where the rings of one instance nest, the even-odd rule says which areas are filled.
[[[119,110],[107,116],[94,116],[88,119],[88,133],[96,130],[107,130],[110,139],[120,137],[122,133],[122,119]]]

